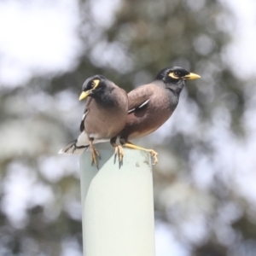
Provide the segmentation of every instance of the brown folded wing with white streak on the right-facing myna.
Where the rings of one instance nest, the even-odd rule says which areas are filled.
[[[135,90],[131,90],[128,93],[129,99],[129,110],[128,113],[134,113],[138,109],[143,108],[149,102],[150,96],[154,93],[154,86],[150,84],[145,84],[137,87]]]

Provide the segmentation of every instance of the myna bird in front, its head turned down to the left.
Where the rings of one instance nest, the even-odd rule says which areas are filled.
[[[79,100],[88,97],[80,125],[82,133],[72,143],[61,148],[59,154],[81,154],[90,146],[91,163],[97,166],[96,158],[100,158],[100,154],[93,143],[107,142],[124,128],[128,97],[125,90],[99,74],[86,79],[82,90]],[[115,140],[110,143],[115,148],[114,154],[119,154],[121,161],[123,148]]]

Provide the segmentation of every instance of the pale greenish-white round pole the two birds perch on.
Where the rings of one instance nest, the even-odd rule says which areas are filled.
[[[154,256],[154,202],[148,153],[125,148],[123,165],[113,148],[97,144],[80,157],[84,256]]]

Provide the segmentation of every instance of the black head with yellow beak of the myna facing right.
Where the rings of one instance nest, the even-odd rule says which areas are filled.
[[[181,80],[200,79],[200,76],[195,73],[189,73],[183,67],[166,67],[158,73],[155,79],[161,80],[166,84],[175,84]]]

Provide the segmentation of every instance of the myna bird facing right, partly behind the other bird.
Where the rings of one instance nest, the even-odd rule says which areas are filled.
[[[183,67],[166,67],[151,84],[145,84],[128,93],[129,110],[124,129],[119,133],[120,143],[126,148],[148,151],[158,162],[153,149],[141,148],[130,139],[144,137],[158,129],[170,118],[177,107],[185,80],[199,79]]]

